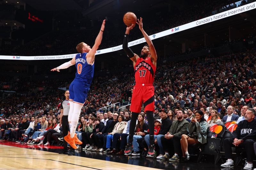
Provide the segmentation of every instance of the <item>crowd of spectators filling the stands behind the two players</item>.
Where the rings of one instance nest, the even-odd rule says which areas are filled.
[[[251,135],[256,130],[255,57],[256,51],[248,50],[215,58],[204,57],[158,66],[154,82],[155,144],[159,148],[156,152],[157,159],[188,160],[189,145],[207,143],[206,136],[210,127],[236,121],[237,130],[250,124],[251,129],[244,129],[242,136],[234,131],[236,137],[233,143],[238,146],[244,142],[240,146],[246,150],[249,150],[248,146],[251,147],[250,152],[247,152],[245,166],[252,168],[252,148],[256,140]],[[183,70],[168,72],[176,64],[186,67]],[[109,154],[146,156],[149,137],[147,115],[143,112],[143,106],[134,131],[133,152],[125,152],[132,113],[129,108],[120,110],[118,105],[106,107],[116,102],[130,104],[132,86],[135,84],[133,73],[112,78],[117,80],[109,86],[101,87],[100,83],[106,81],[106,78],[94,79],[77,125],[76,133],[80,134],[77,136],[83,141],[77,148]],[[56,82],[56,85],[49,85],[47,94],[17,94],[9,100],[1,100],[1,138],[23,144],[49,145],[55,141],[53,144],[61,145],[59,104],[63,92],[56,92],[57,84],[60,83]],[[38,110],[35,117],[30,116],[30,113]],[[230,141],[225,139],[224,144],[227,147],[232,146]],[[168,145],[170,142],[173,145]],[[227,153],[226,158],[228,161],[222,166],[232,166],[232,155]]]

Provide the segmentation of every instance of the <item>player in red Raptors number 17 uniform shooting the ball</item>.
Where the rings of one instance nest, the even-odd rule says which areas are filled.
[[[140,56],[134,54],[132,50],[128,47],[128,36],[130,31],[134,28],[135,24],[128,26],[124,35],[123,49],[128,57],[133,62],[134,74],[135,74],[135,85],[133,87],[132,101],[131,101],[131,111],[132,119],[129,129],[129,139],[128,145],[124,151],[126,155],[131,153],[133,134],[136,126],[136,120],[140,113],[141,105],[143,102],[145,112],[148,119],[148,129],[149,129],[149,149],[147,157],[154,157],[155,145],[154,145],[154,76],[156,72],[156,49],[150,40],[148,34],[143,30],[142,18],[138,19],[137,24],[139,25],[140,31],[143,34],[148,45],[145,45],[140,52]],[[136,140],[136,139],[135,139]],[[135,144],[135,143],[134,143]]]

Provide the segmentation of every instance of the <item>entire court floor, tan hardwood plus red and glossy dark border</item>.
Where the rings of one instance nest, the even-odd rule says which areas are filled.
[[[108,155],[102,152],[76,150],[76,156],[58,154],[63,147],[26,145],[0,141],[0,170],[54,169],[54,170],[228,170],[220,168],[225,159],[213,164],[213,157],[204,157],[199,163],[191,156],[188,162],[169,162],[140,156]],[[243,169],[243,163],[232,170]]]

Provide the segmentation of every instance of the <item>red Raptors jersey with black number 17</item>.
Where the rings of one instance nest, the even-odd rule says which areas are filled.
[[[153,84],[156,72],[156,66],[151,62],[150,57],[145,60],[139,58],[134,66],[136,84]]]

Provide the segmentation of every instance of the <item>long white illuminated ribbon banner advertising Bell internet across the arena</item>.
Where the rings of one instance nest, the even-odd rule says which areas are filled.
[[[162,31],[160,33],[153,34],[153,35],[149,35],[149,38],[151,40],[154,40],[154,39],[157,39],[157,38],[164,37],[166,35],[170,35],[170,34],[173,34],[173,33],[178,33],[180,31],[184,31],[184,30],[196,27],[196,26],[201,26],[201,25],[213,22],[213,21],[217,21],[219,19],[231,17],[233,15],[236,15],[236,14],[239,14],[239,13],[242,13],[242,12],[250,11],[250,10],[255,9],[255,4],[256,4],[256,2],[252,2],[250,4],[239,6],[239,7],[236,7],[234,9],[231,9],[231,10],[228,10],[228,11],[224,11],[224,12],[206,17],[206,18],[202,18],[202,19],[190,22],[188,24],[177,26],[177,27],[168,29],[166,31]],[[138,45],[138,44],[141,44],[141,43],[145,43],[145,42],[146,42],[145,38],[134,40],[134,41],[128,42],[128,47]],[[111,48],[106,48],[106,49],[101,49],[101,50],[97,50],[95,55],[110,53],[110,52],[118,51],[118,50],[121,50],[121,49],[123,49],[122,45],[119,45],[119,46],[116,46],[116,47],[111,47]],[[73,58],[74,56],[76,56],[76,54],[45,55],[45,56],[0,55],[0,59],[1,60],[56,60],[56,59]]]

